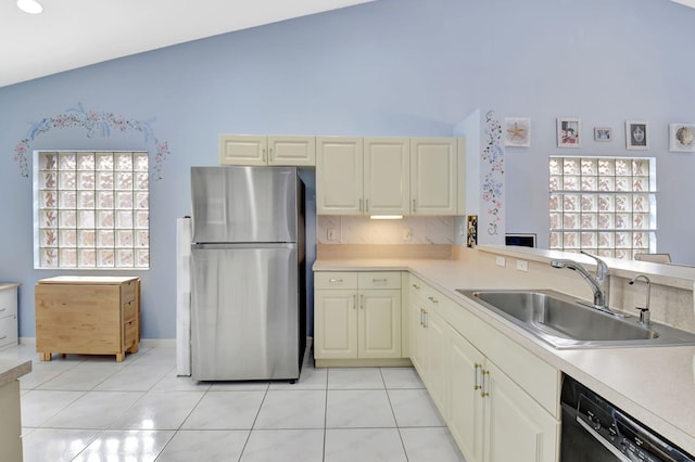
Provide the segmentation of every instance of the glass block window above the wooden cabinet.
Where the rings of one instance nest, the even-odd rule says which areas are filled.
[[[34,266],[148,269],[147,152],[34,152]]]

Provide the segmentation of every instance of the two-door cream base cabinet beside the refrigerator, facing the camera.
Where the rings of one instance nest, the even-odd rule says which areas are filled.
[[[315,359],[401,359],[400,272],[317,272],[315,287]]]

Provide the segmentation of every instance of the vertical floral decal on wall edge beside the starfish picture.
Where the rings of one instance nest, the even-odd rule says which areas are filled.
[[[504,147],[502,124],[495,118],[494,111],[485,114],[484,136],[484,147],[480,155],[484,172],[482,202],[486,207],[488,234],[497,235],[504,216]]]

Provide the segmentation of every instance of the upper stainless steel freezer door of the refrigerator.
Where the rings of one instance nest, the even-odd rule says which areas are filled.
[[[296,242],[292,167],[192,167],[193,242]]]

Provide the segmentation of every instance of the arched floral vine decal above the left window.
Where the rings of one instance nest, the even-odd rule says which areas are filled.
[[[67,110],[64,114],[45,117],[40,121],[33,123],[26,138],[20,141],[14,149],[14,161],[20,167],[22,176],[28,178],[28,155],[31,151],[29,143],[53,129],[81,128],[87,130],[87,138],[96,136],[108,138],[112,131],[135,131],[142,133],[146,143],[154,143],[155,154],[154,165],[150,168],[151,177],[153,180],[161,180],[164,162],[169,155],[169,146],[166,141],[161,141],[154,136],[150,126],[152,121],[126,118],[109,112],[87,111],[81,103],[77,103],[76,108]]]

